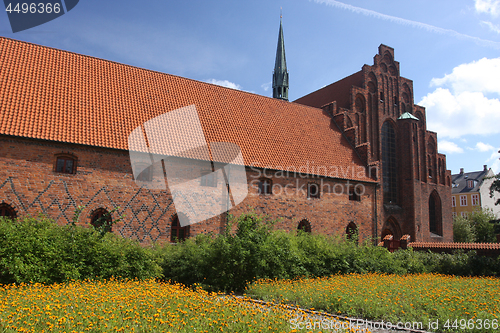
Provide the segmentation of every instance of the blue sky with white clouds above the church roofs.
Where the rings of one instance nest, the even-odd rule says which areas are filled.
[[[0,13],[0,35],[271,96],[280,7],[290,100],[389,45],[448,169],[500,172],[500,0],[80,0],[15,34]]]

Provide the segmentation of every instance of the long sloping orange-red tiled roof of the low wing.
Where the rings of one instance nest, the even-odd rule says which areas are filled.
[[[127,150],[136,127],[189,105],[207,141],[237,144],[246,165],[371,181],[322,110],[0,37],[0,134]]]

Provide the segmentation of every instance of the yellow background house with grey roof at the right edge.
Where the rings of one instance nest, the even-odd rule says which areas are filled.
[[[500,206],[495,205],[500,195],[495,193],[490,197],[490,186],[493,183],[495,173],[485,165],[481,171],[464,172],[452,175],[451,187],[451,209],[452,215],[467,216],[473,211],[482,208],[490,208],[498,218]]]

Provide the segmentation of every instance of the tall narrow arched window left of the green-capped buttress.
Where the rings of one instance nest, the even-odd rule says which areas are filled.
[[[386,121],[382,125],[382,180],[384,202],[397,202],[396,131]]]

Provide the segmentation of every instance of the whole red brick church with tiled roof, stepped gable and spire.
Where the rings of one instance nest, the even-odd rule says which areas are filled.
[[[392,48],[294,102],[288,89],[281,25],[274,98],[0,37],[0,215],[43,213],[62,225],[83,206],[79,224],[104,216],[117,221],[112,232],[144,243],[219,233],[226,213],[182,226],[171,189],[141,186],[148,175],[134,173],[129,152],[135,129],[192,106],[209,145],[241,150],[248,194],[230,214],[266,214],[290,231],[452,241],[446,157]],[[177,158],[200,188],[225,188],[213,168]]]

